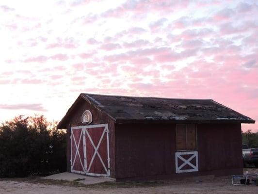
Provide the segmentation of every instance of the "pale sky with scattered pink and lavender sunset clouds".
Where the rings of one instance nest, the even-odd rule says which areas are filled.
[[[59,121],[80,93],[213,99],[258,120],[257,0],[1,0],[0,51],[1,122]]]

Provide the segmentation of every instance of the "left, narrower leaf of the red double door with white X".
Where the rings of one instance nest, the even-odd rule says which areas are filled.
[[[71,128],[71,172],[85,174],[85,157],[84,146],[85,141],[83,136],[85,131],[83,127]],[[84,142],[84,144],[83,144]]]

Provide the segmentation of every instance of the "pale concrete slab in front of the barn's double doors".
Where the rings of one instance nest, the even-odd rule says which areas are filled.
[[[78,182],[85,185],[115,181],[114,178],[110,178],[110,177],[90,177],[90,176],[78,175],[78,174],[68,173],[68,172],[50,175],[48,177],[44,177],[44,179],[67,180],[67,181],[77,180]]]

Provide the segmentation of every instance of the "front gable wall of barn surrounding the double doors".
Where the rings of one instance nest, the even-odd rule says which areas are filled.
[[[68,121],[67,129],[67,149],[66,149],[66,158],[67,158],[67,172],[70,172],[70,155],[71,155],[71,147],[70,147],[70,134],[71,127],[75,126],[83,126],[81,123],[81,115],[85,110],[89,110],[92,113],[93,121],[90,125],[97,124],[105,124],[108,123],[108,127],[110,130],[109,133],[109,147],[110,147],[110,173],[111,177],[115,176],[115,153],[114,153],[114,122],[110,117],[108,117],[105,113],[98,111],[95,107],[93,107],[90,103],[85,100],[81,100],[77,106],[74,108],[74,112],[71,113],[71,118]]]

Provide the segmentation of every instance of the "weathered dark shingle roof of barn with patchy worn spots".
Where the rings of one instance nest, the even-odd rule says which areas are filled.
[[[66,128],[73,108],[84,99],[106,113],[115,123],[129,122],[197,122],[255,123],[212,99],[178,99],[160,97],[125,97],[82,93],[60,121],[57,128]]]

